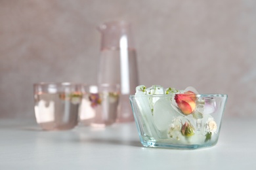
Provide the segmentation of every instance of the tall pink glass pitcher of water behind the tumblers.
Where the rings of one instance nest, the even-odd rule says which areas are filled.
[[[99,84],[119,84],[120,96],[117,122],[133,121],[129,95],[139,85],[137,56],[128,22],[106,22],[99,25],[101,33]]]

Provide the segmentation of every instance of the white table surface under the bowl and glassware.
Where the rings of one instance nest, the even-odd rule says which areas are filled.
[[[145,148],[135,123],[41,131],[35,120],[0,120],[0,169],[256,169],[256,118],[224,118],[217,145]]]

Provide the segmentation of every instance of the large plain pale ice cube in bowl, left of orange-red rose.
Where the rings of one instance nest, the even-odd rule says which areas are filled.
[[[159,99],[154,105],[154,123],[158,130],[164,131],[169,128],[175,117],[180,116],[171,106],[169,99]]]

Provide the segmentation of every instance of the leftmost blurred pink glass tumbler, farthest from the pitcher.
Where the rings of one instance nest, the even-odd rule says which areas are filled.
[[[77,125],[81,86],[70,82],[33,84],[35,118],[44,130],[66,130]]]

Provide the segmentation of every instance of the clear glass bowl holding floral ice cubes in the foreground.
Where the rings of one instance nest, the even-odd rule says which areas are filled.
[[[130,95],[143,146],[196,149],[217,144],[227,95],[186,97],[192,98],[194,103],[177,103],[175,94]]]

